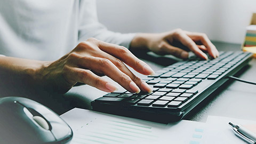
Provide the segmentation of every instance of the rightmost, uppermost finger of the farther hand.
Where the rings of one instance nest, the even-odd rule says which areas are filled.
[[[207,52],[210,54],[211,57],[216,58],[218,57],[218,50],[216,47],[212,44],[210,39],[205,34],[201,33],[191,33],[188,32],[187,35],[192,38],[194,41],[200,41],[203,45],[206,46]]]

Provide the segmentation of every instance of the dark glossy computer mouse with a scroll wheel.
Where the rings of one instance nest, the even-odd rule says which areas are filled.
[[[70,126],[40,103],[0,98],[0,143],[69,143],[72,137]]]

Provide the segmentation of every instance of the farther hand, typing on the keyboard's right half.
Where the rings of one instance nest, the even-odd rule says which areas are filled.
[[[181,29],[160,34],[138,34],[132,40],[131,49],[147,47],[147,49],[157,54],[172,54],[175,57],[186,59],[188,58],[188,52],[181,49],[181,45],[205,60],[208,58],[204,51],[213,58],[219,57],[218,50],[205,34],[192,33]]]

